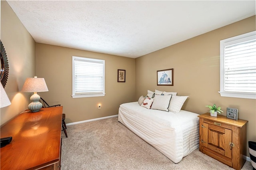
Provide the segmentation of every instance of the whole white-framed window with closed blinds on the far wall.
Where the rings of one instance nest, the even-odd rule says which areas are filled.
[[[72,97],[105,96],[105,60],[72,57]]]

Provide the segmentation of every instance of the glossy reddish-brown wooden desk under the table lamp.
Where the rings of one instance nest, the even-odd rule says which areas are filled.
[[[1,170],[60,169],[62,106],[22,113],[1,127]]]

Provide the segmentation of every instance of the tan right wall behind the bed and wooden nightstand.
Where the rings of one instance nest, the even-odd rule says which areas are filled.
[[[218,93],[220,40],[254,30],[255,16],[136,58],[136,97],[145,96],[148,89],[158,89],[190,96],[182,109],[198,114],[208,112],[205,105],[214,103],[222,107],[225,116],[227,107],[237,108],[238,118],[249,121],[247,141],[256,141],[256,100],[221,97]],[[157,86],[156,71],[171,68],[174,86]]]

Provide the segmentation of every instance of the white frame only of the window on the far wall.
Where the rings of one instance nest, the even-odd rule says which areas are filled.
[[[75,59],[84,60],[84,61],[92,61],[92,62],[102,62],[103,63],[103,91],[102,93],[87,93],[87,94],[76,94],[75,93]],[[72,56],[72,98],[82,98],[82,97],[102,97],[105,96],[105,60],[102,59],[93,59],[86,57],[77,57]]]

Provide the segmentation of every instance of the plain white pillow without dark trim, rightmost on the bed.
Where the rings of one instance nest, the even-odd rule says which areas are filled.
[[[170,101],[170,105],[168,107],[168,110],[173,113],[179,113],[180,109],[182,108],[184,102],[189,96],[176,96],[172,95],[172,99]]]

